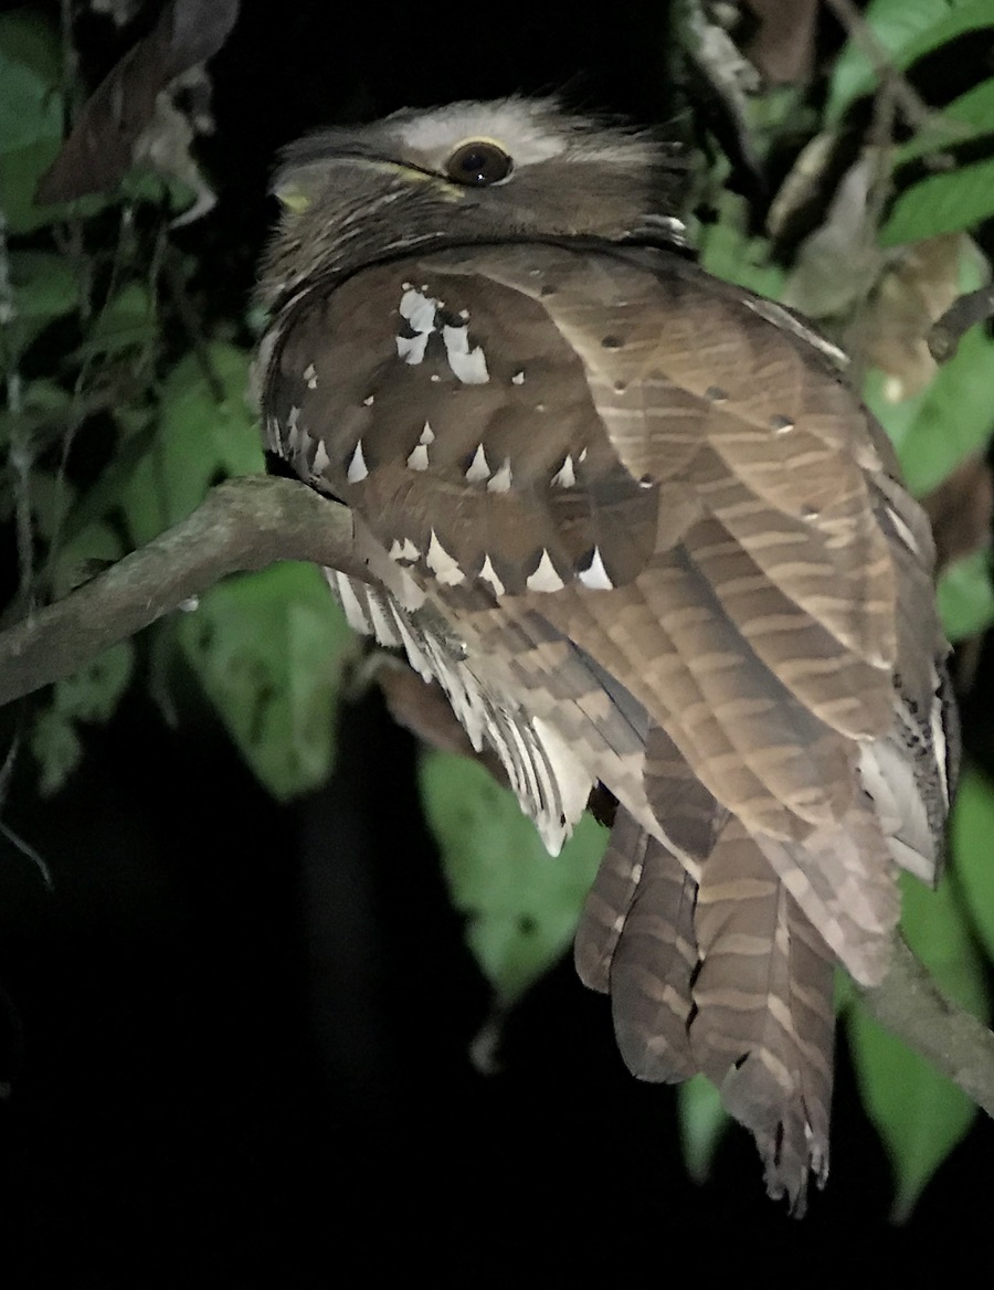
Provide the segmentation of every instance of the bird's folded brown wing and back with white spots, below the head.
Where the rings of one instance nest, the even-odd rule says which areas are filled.
[[[941,799],[922,789],[931,744],[905,770],[892,677],[927,660],[913,702],[930,713],[942,644],[927,525],[817,339],[679,257],[552,245],[376,266],[293,310],[272,444],[385,552],[365,626],[427,632],[423,671],[447,667],[482,737],[508,710],[518,743],[543,722],[508,756],[547,838],[599,778],[696,877],[707,851],[654,810],[659,729],[677,788],[688,774],[713,804],[704,836],[740,819],[878,979],[893,849],[861,777],[895,819],[908,793]],[[570,775],[584,791],[562,791]],[[941,802],[922,814],[904,858],[928,872]]]

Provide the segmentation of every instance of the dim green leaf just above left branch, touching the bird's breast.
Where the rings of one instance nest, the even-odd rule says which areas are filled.
[[[135,546],[186,519],[219,479],[266,468],[255,415],[246,401],[249,355],[215,342],[205,347],[204,359],[220,401],[195,355],[183,359],[164,382],[155,444],[124,491]]]

